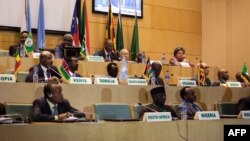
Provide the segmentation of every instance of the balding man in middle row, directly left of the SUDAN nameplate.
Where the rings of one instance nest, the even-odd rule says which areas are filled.
[[[213,86],[224,86],[229,79],[228,70],[220,69],[217,75],[218,75],[218,80],[213,83]]]

